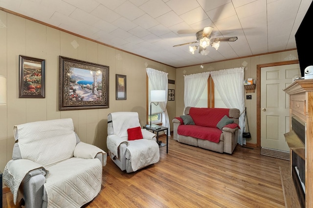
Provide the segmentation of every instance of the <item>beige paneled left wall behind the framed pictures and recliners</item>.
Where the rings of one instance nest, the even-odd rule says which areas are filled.
[[[0,11],[0,75],[7,78],[7,105],[0,105],[0,171],[12,158],[13,126],[27,122],[72,118],[83,142],[105,151],[107,116],[137,111],[146,124],[146,67],[169,73],[175,68],[153,62],[49,26]],[[76,43],[73,44],[73,43]],[[77,46],[77,47],[76,47]],[[45,60],[45,98],[19,98],[19,55]],[[59,111],[59,56],[110,67],[109,108]],[[127,100],[115,100],[115,74],[127,76]],[[173,87],[172,87],[173,88]],[[169,103],[175,109],[176,102]],[[169,112],[175,116],[175,110]]]

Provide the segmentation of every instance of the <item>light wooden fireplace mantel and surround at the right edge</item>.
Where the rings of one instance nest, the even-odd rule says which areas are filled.
[[[299,138],[294,135],[292,125],[291,131],[285,134],[285,138],[290,145],[291,157],[292,153],[295,153],[306,161],[305,207],[313,208],[313,79],[295,80],[284,91],[290,95],[290,124],[292,116],[306,124],[305,144],[298,141]],[[290,161],[292,175],[292,158]]]

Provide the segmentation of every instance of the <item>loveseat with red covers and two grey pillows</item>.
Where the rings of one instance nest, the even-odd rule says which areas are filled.
[[[174,140],[232,154],[238,142],[239,109],[186,107],[184,114],[172,120]]]

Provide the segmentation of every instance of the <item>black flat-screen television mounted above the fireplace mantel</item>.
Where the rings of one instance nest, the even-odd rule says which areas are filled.
[[[311,40],[311,27],[313,25],[313,3],[311,3],[297,32],[294,35],[297,47],[301,77],[304,77],[304,69],[313,65],[313,41]]]

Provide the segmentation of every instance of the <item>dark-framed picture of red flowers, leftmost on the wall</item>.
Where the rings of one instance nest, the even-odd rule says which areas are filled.
[[[45,98],[45,60],[19,56],[19,98]]]

